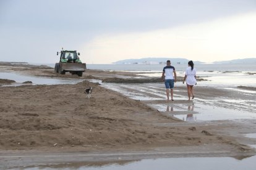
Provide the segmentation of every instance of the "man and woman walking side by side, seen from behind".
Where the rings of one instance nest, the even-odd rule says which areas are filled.
[[[189,61],[188,66],[189,67],[186,69],[186,73],[183,79],[183,84],[186,80],[187,95],[190,100],[190,99],[194,99],[195,97],[193,86],[197,84],[197,75],[196,75],[194,63],[192,62],[192,60]],[[169,100],[169,94],[171,93],[171,100],[174,101],[173,88],[174,88],[174,83],[176,83],[177,81],[177,76],[176,76],[175,68],[171,66],[170,60],[167,60],[166,67],[163,68],[162,79],[166,87],[167,100]]]

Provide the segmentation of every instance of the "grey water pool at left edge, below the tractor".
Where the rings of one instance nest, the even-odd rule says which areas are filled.
[[[54,78],[41,78],[36,76],[25,76],[19,75],[17,73],[0,73],[1,79],[11,79],[16,81],[13,84],[6,84],[2,86],[21,86],[24,81],[32,81],[33,85],[35,84],[46,84],[46,85],[53,85],[53,84],[77,84],[82,82],[81,79],[54,79]]]

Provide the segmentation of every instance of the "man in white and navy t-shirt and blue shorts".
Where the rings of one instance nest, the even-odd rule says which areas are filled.
[[[174,75],[174,78],[173,78]],[[176,83],[176,71],[173,66],[171,66],[171,61],[167,60],[166,67],[163,68],[163,74],[162,79],[164,81],[165,87],[166,87],[166,95],[167,100],[169,100],[169,89],[171,89],[171,100],[173,101],[173,87],[174,82]]]

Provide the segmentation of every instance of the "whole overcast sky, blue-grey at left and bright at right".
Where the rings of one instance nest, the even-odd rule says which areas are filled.
[[[0,0],[0,61],[256,57],[255,0]]]

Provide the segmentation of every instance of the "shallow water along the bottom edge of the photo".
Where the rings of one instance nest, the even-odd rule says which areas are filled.
[[[158,158],[140,161],[117,161],[116,163],[66,163],[49,166],[37,166],[23,169],[85,169],[85,170],[116,170],[116,169],[147,169],[147,170],[198,170],[198,169],[255,169],[256,156],[242,160],[230,157],[198,157],[198,158]]]

